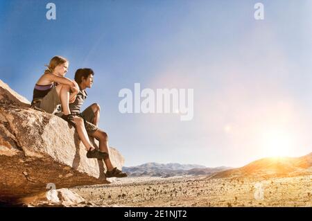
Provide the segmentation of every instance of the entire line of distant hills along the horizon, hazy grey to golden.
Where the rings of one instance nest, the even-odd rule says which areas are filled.
[[[253,161],[241,168],[220,166],[207,168],[196,164],[144,163],[123,167],[130,177],[174,177],[209,175],[209,179],[227,177],[291,177],[312,174],[312,152],[303,157],[269,157]]]

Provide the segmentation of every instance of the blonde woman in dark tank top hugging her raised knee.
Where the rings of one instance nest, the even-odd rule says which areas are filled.
[[[66,58],[55,56],[51,59],[44,74],[37,80],[33,89],[33,100],[31,107],[40,109],[49,114],[58,114],[60,105],[62,107],[62,118],[71,123],[71,112],[69,103],[76,100],[79,86],[74,80],[65,78],[69,62]],[[80,138],[84,138],[84,127],[76,126]],[[96,150],[86,139],[81,139],[87,149],[88,158],[103,159],[105,155]]]

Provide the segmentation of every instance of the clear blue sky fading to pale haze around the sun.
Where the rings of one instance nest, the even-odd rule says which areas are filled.
[[[56,20],[46,19],[46,3]],[[265,19],[254,19],[254,4]],[[311,152],[312,3],[302,1],[0,1],[0,79],[31,100],[54,55],[91,67],[84,107],[125,166],[243,166]],[[194,89],[194,117],[121,114],[119,90]]]

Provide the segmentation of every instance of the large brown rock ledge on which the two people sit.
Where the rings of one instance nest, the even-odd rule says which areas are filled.
[[[47,191],[51,184],[68,188],[109,183],[105,163],[87,159],[86,153],[66,121],[31,109],[26,98],[0,80],[1,201]],[[110,157],[121,169],[121,154],[110,148]]]

